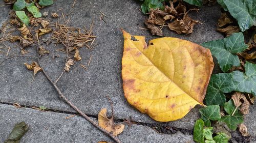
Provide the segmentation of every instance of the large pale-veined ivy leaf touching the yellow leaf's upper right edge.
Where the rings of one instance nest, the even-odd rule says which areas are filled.
[[[232,66],[240,66],[240,61],[236,53],[244,51],[248,45],[244,43],[243,33],[234,33],[233,35],[201,44],[210,49],[223,72],[227,72]]]

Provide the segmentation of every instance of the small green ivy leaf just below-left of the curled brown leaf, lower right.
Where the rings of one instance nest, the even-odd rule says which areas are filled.
[[[243,115],[241,113],[237,113],[237,115],[226,115],[222,117],[219,122],[224,122],[227,124],[230,130],[236,130],[238,125],[243,123]]]

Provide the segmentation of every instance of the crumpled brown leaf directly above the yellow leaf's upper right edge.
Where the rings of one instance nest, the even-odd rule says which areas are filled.
[[[176,31],[178,34],[190,34],[193,32],[194,25],[197,23],[199,23],[198,20],[191,19],[188,14],[185,13],[181,20],[177,18],[174,22],[169,23],[168,27],[170,30]]]

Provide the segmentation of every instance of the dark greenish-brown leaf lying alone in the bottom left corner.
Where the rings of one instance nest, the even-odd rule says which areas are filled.
[[[29,130],[28,125],[25,122],[20,122],[15,124],[12,132],[8,136],[8,138],[5,140],[4,143],[18,143],[20,138],[23,137],[23,135]]]

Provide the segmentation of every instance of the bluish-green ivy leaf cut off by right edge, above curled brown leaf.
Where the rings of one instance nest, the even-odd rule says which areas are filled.
[[[245,63],[245,73],[232,72],[232,79],[237,84],[235,91],[256,95],[256,64]]]

